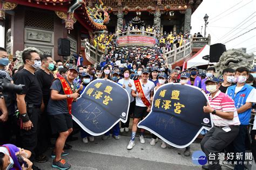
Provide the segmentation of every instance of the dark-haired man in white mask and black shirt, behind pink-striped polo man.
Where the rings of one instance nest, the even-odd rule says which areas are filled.
[[[235,70],[233,68],[226,68],[223,70],[223,83],[221,83],[219,90],[226,93],[227,88],[233,86],[235,83]]]

